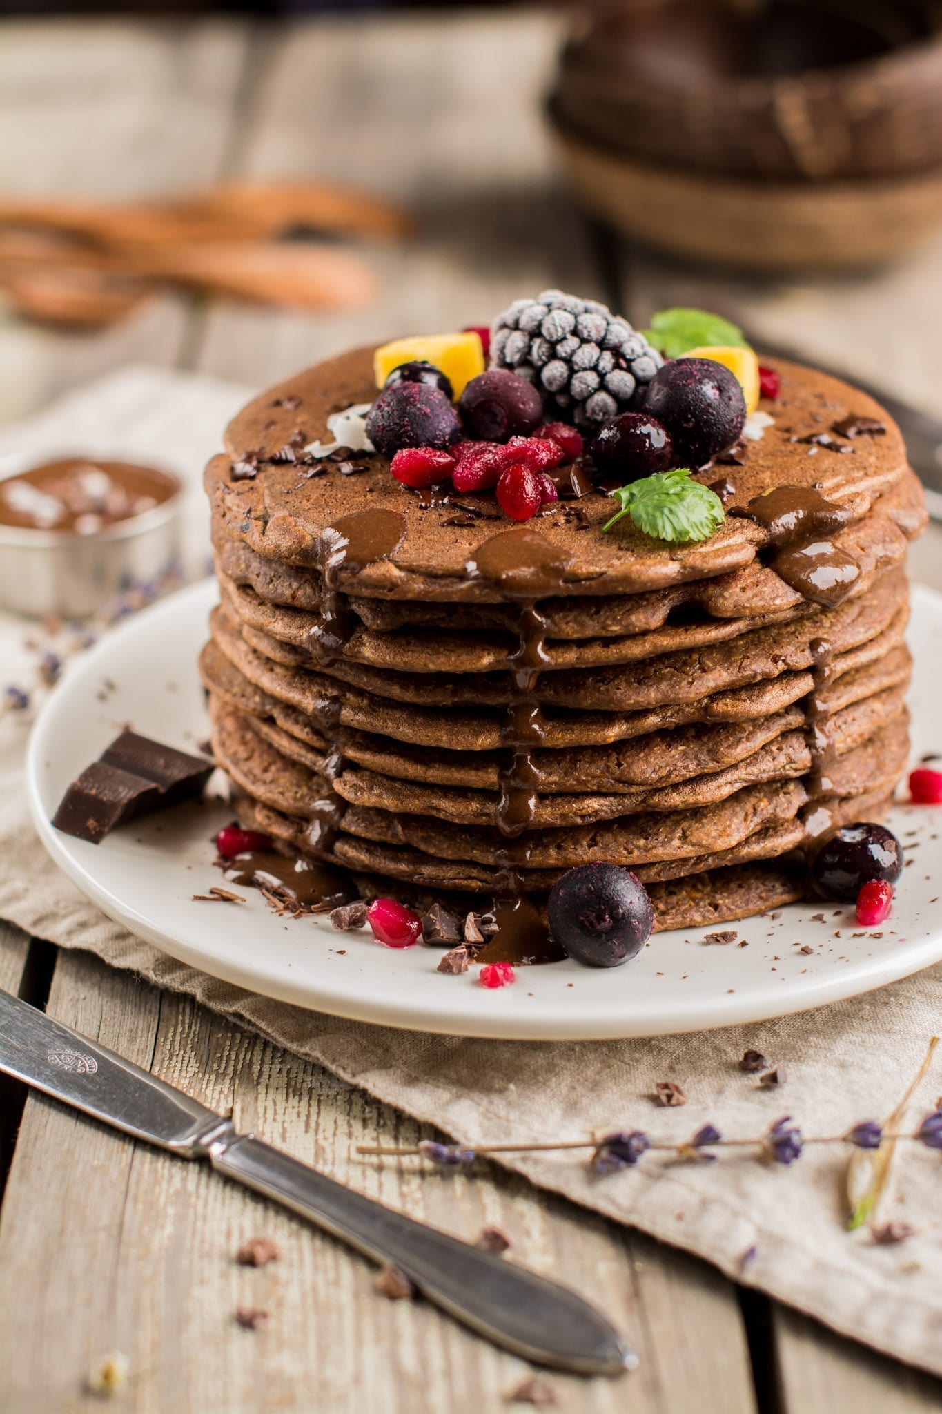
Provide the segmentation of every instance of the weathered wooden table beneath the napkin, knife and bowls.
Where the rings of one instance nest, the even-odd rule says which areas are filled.
[[[758,338],[787,337],[938,410],[942,242],[890,273],[801,287],[621,249],[586,228],[552,177],[539,98],[555,42],[552,24],[525,13],[278,30],[7,23],[0,189],[126,197],[316,174],[405,199],[422,230],[407,249],[370,252],[383,294],[353,317],[171,296],[93,338],[10,317],[4,420],[126,361],[271,383],[357,341],[483,322],[547,284],[597,291],[637,321],[664,304],[722,308]],[[941,546],[935,530],[914,561],[942,587]],[[419,1127],[89,956],[0,925],[0,986],[391,1205],[470,1239],[503,1226],[514,1257],[602,1301],[638,1348],[641,1366],[621,1381],[552,1376],[565,1410],[942,1410],[936,1381],[499,1168],[441,1182],[364,1164],[359,1141],[414,1143]],[[373,1271],[328,1237],[11,1085],[0,1087],[0,1189],[3,1414],[93,1407],[86,1373],[109,1350],[131,1372],[116,1407],[154,1414],[483,1414],[527,1373],[432,1308],[378,1297]],[[237,1266],[258,1233],[281,1260]],[[242,1329],[239,1307],[266,1308],[266,1329]]]

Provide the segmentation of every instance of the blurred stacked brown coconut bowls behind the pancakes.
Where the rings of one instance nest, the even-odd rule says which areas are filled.
[[[607,0],[551,120],[582,201],[672,253],[861,266],[942,219],[942,33],[922,0]]]

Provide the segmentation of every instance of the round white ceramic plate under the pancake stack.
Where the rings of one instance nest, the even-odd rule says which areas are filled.
[[[184,590],[78,659],[48,699],[28,754],[32,814],[52,857],[99,908],[181,962],[359,1021],[504,1039],[600,1039],[802,1011],[942,959],[942,807],[893,812],[888,823],[911,863],[881,929],[859,929],[853,906],[791,905],[778,919],[730,925],[747,947],[705,946],[708,929],[658,933],[624,967],[524,967],[499,991],[480,987],[473,967],[459,977],[436,973],[438,949],[393,952],[369,930],[338,933],[321,919],[278,918],[253,889],[240,891],[246,904],[193,902],[220,882],[210,836],[230,817],[223,800],[133,822],[99,846],[59,834],[48,820],[62,792],[121,727],[184,749],[206,735],[196,655],[215,598],[212,581]],[[915,588],[910,638],[918,758],[942,751],[941,595]]]

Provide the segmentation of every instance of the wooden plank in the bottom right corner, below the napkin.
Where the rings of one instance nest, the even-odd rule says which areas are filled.
[[[845,1340],[784,1307],[775,1308],[773,1329],[781,1414],[942,1411],[942,1380]]]

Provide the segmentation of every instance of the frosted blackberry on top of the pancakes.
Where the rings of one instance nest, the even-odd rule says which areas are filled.
[[[592,426],[637,406],[661,355],[597,300],[542,290],[494,321],[491,368],[510,368],[541,390],[548,414]]]

